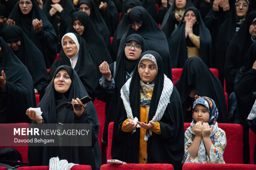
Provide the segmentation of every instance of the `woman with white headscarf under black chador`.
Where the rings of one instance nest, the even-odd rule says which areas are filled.
[[[52,81],[56,68],[60,65],[71,66],[79,76],[85,90],[95,100],[94,84],[97,81],[95,64],[87,51],[85,40],[76,33],[66,33],[62,37],[62,50],[59,59],[50,68],[48,83]]]

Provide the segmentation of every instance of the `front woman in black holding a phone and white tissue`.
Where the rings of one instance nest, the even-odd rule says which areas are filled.
[[[100,169],[101,157],[98,142],[100,124],[92,101],[83,104],[79,100],[86,95],[88,93],[73,68],[62,65],[55,70],[54,78],[38,105],[43,112],[43,119],[40,119],[35,111],[29,109],[26,115],[33,120],[32,123],[90,123],[92,146],[62,146],[65,141],[59,139],[62,141],[60,146],[28,147],[30,165],[49,165],[50,158],[59,156],[60,159],[66,159],[69,163],[90,165],[92,169]],[[74,106],[73,110],[66,109],[67,102],[79,103],[83,107],[80,110],[76,110]],[[58,129],[61,128],[58,127]]]

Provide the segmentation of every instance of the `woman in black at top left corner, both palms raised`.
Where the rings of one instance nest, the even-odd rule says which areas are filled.
[[[57,37],[36,0],[19,0],[7,20],[7,26],[17,25],[40,49],[50,68],[57,55]]]

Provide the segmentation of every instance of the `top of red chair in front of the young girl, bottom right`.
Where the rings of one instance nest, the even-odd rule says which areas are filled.
[[[235,153],[234,153],[235,154]],[[183,170],[256,170],[251,164],[185,163]]]

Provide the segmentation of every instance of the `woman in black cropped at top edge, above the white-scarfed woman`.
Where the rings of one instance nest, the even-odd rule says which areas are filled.
[[[61,38],[66,33],[75,8],[70,0],[47,0],[43,6],[43,12],[52,23],[58,38],[58,52],[60,51]]]

